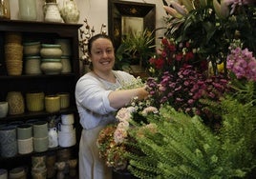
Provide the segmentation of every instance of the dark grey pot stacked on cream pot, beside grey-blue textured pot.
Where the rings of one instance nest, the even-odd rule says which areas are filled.
[[[17,127],[18,153],[27,154],[33,151],[32,125],[23,124]]]

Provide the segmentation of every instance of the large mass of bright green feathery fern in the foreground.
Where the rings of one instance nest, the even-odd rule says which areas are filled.
[[[239,94],[238,94],[239,95]],[[238,97],[238,96],[236,96]],[[190,117],[170,106],[149,114],[145,128],[133,124],[131,135],[140,152],[130,152],[128,169],[139,178],[245,178],[255,168],[256,107],[227,95],[218,106],[223,124],[213,131],[199,116]],[[210,109],[210,107],[209,107]]]

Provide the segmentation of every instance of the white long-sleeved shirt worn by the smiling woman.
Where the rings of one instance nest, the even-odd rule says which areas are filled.
[[[83,129],[94,129],[116,121],[115,111],[110,106],[108,95],[125,82],[135,77],[125,71],[114,70],[117,83],[107,82],[88,72],[77,81],[75,86],[75,102]]]

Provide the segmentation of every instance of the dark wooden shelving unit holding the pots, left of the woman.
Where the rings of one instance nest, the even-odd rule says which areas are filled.
[[[26,122],[32,119],[46,119],[53,115],[62,113],[75,114],[76,129],[76,145],[71,147],[74,154],[78,154],[78,141],[80,136],[80,127],[78,122],[78,114],[75,107],[75,83],[79,78],[79,52],[78,52],[78,29],[81,24],[63,24],[63,23],[46,23],[31,22],[20,20],[0,20],[0,101],[6,101],[9,91],[21,91],[24,99],[25,94],[30,91],[43,91],[47,94],[56,94],[58,92],[70,92],[70,108],[61,109],[58,112],[49,113],[46,111],[30,112],[25,108],[25,112],[18,115],[8,115],[6,118],[0,119],[0,125],[7,125],[15,121]],[[10,76],[6,70],[4,44],[5,32],[14,31],[21,32],[23,39],[29,38],[34,41],[40,41],[45,44],[53,44],[54,39],[67,38],[71,42],[72,55],[70,57],[72,72],[57,75],[22,75]],[[26,107],[26,105],[25,105]],[[42,153],[32,152],[29,154],[17,154],[11,158],[0,157],[0,168],[13,169],[20,165],[31,167],[31,157],[33,154],[47,154],[55,152],[63,148],[57,147],[49,149]]]

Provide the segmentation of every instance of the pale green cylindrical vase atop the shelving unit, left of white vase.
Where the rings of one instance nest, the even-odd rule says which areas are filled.
[[[19,18],[27,21],[37,19],[36,0],[19,0]]]

